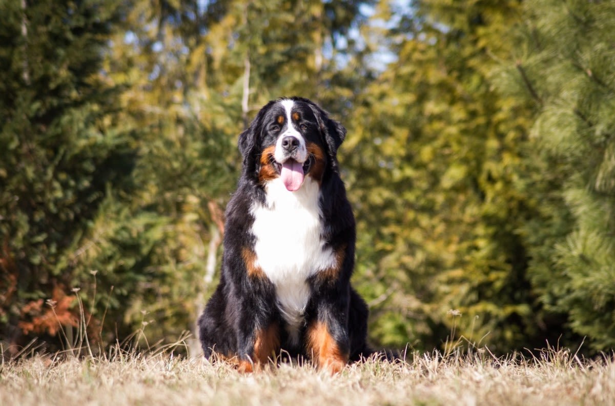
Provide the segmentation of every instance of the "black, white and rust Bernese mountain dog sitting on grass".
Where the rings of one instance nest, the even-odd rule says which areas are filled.
[[[199,318],[205,357],[252,372],[284,353],[336,373],[369,356],[352,289],[355,221],[336,153],[346,129],[312,101],[270,101],[239,135],[220,284]]]

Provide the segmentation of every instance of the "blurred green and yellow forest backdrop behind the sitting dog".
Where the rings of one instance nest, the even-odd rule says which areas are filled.
[[[614,1],[1,0],[2,353],[194,330],[283,95],[349,130],[376,347],[615,347]]]

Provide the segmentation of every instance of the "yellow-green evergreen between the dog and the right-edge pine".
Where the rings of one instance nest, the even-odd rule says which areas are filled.
[[[517,1],[433,0],[395,13],[397,60],[355,109],[357,263],[383,344],[431,349],[454,330],[504,352],[549,336],[520,231],[533,215],[527,107],[490,76],[520,12]]]

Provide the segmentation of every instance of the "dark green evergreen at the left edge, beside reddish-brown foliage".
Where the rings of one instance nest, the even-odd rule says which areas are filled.
[[[115,130],[117,89],[101,72],[118,12],[114,0],[2,3],[0,335],[9,354],[32,336],[57,337],[58,323],[76,326],[71,289],[92,278],[74,267],[76,241],[106,197],[132,188],[132,135]]]

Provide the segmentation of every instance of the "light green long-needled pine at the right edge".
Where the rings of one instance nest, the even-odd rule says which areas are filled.
[[[540,298],[593,349],[615,346],[615,5],[525,4],[500,87],[530,101],[540,216],[530,273]]]

